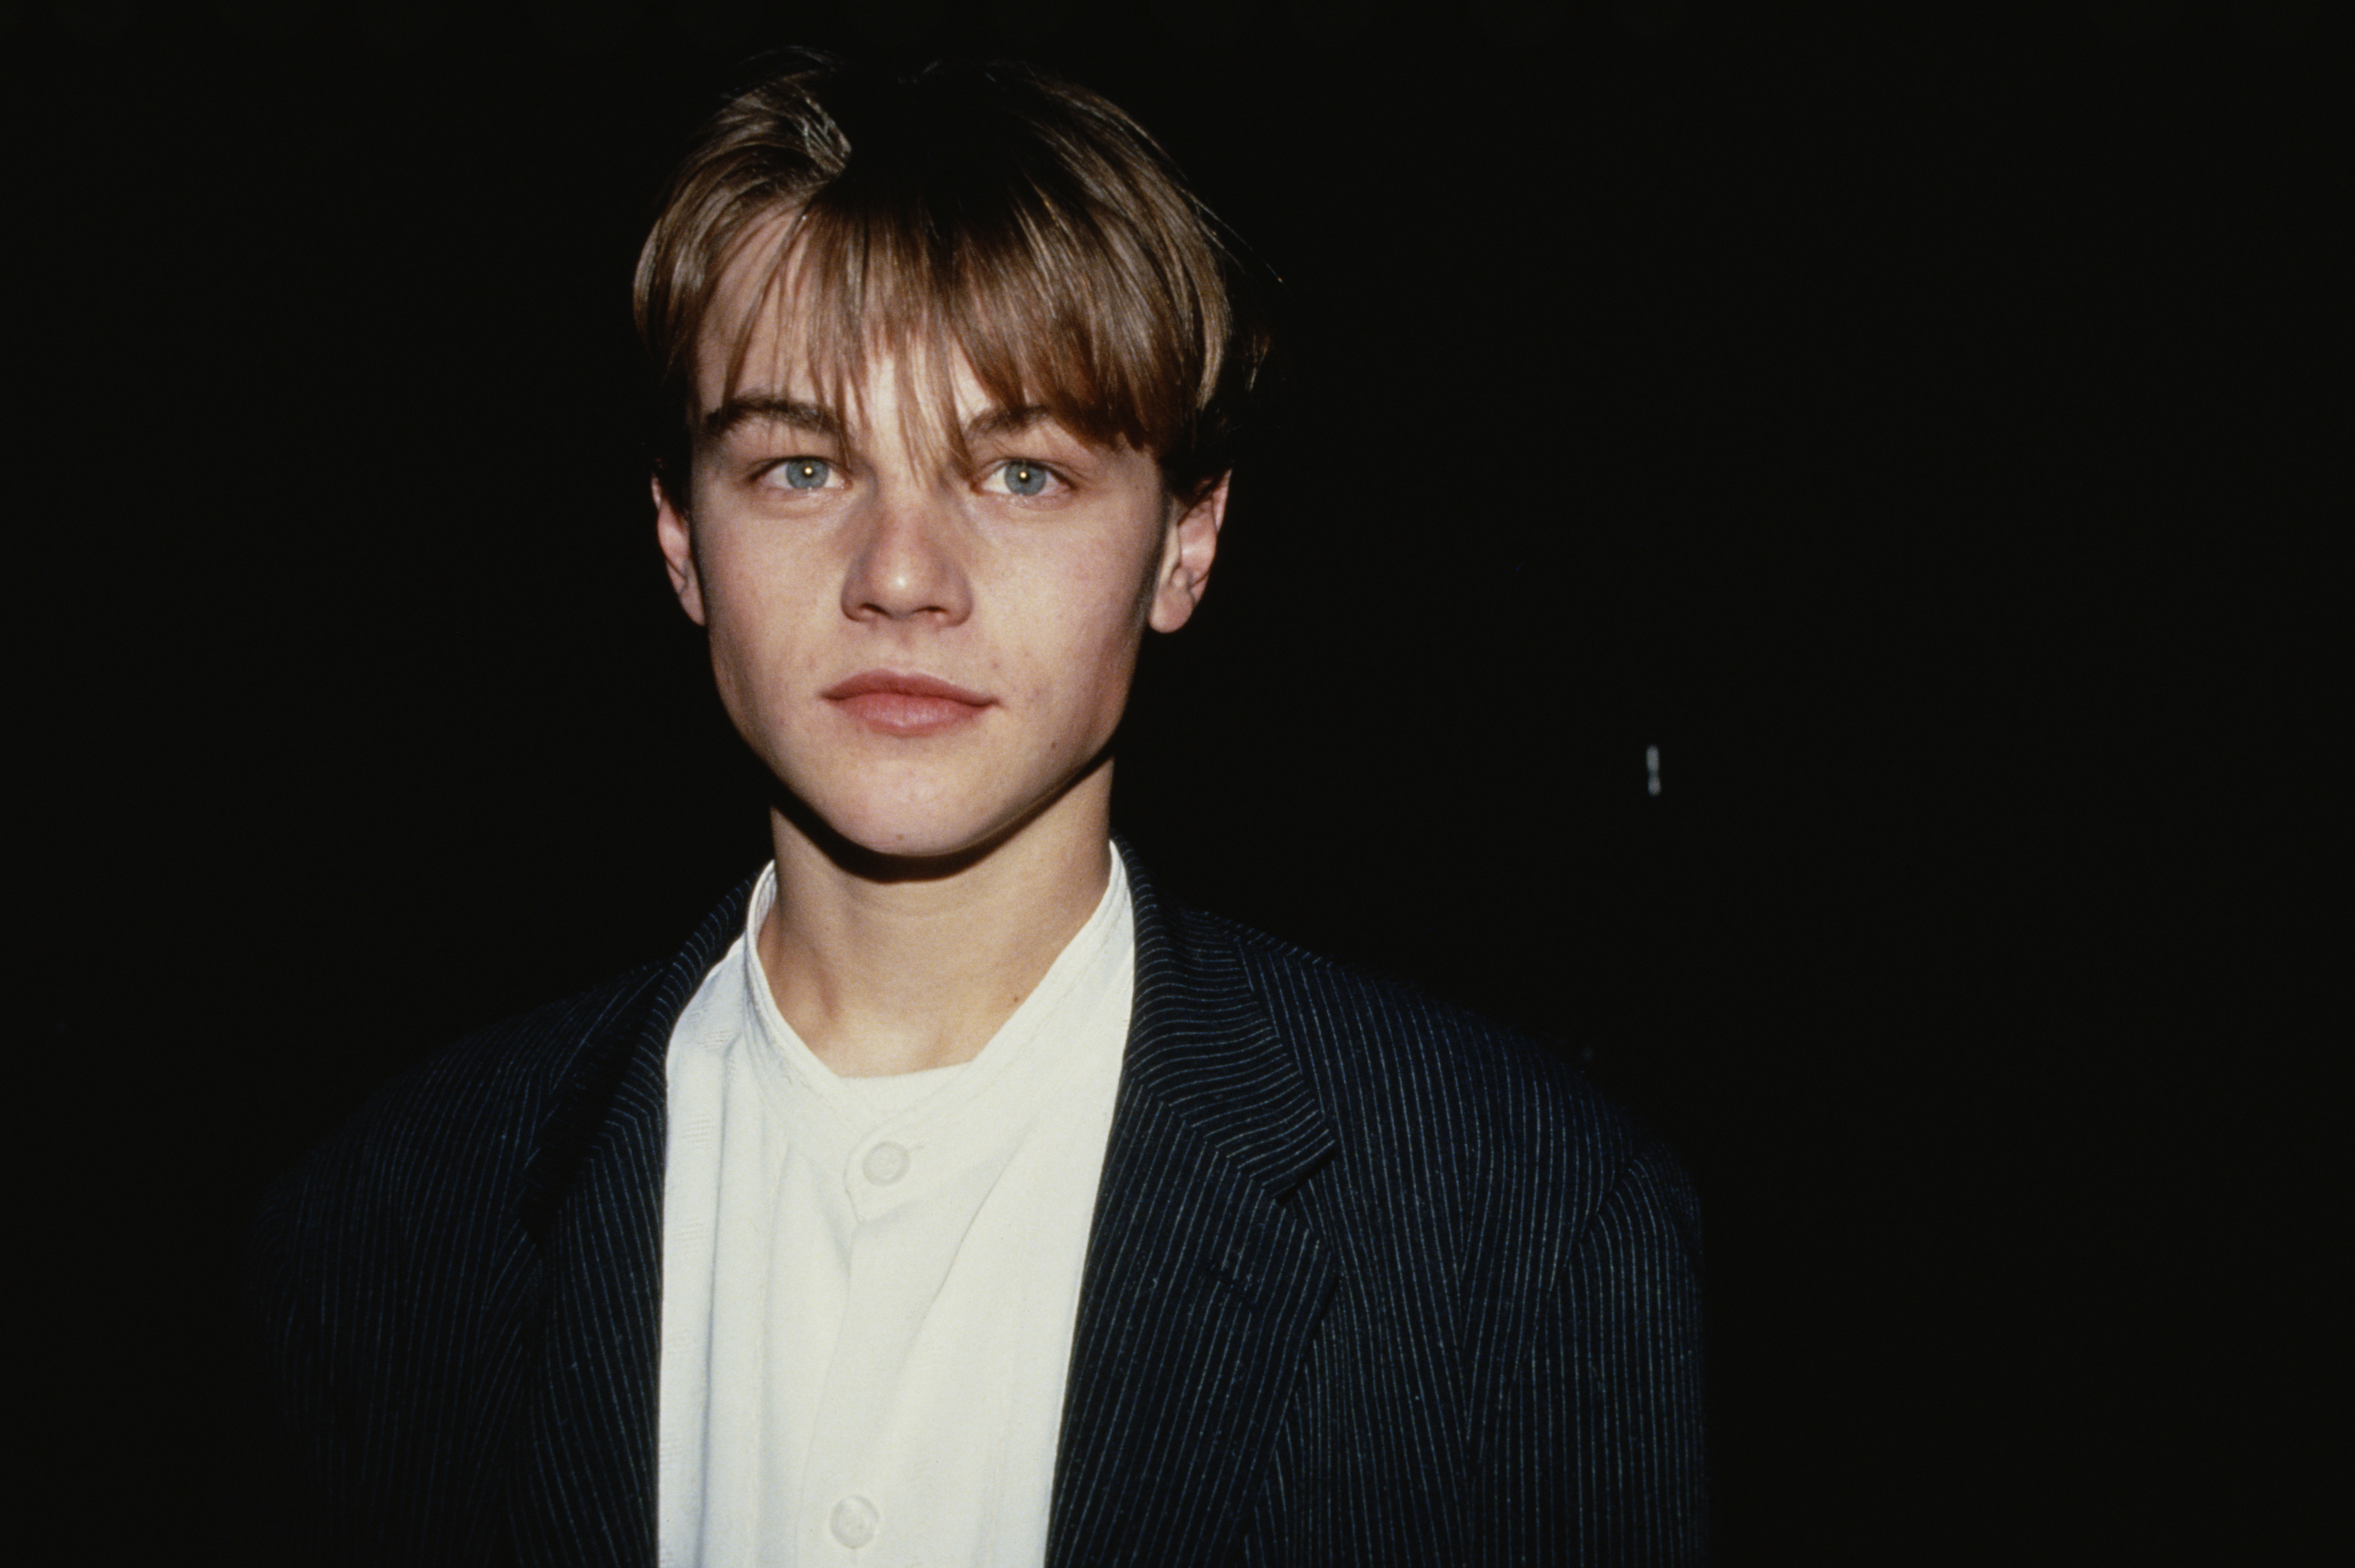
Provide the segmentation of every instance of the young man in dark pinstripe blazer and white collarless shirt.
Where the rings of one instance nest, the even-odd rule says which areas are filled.
[[[1693,1561],[1674,1163],[1112,841],[1265,348],[1152,141],[1015,68],[810,61],[690,153],[638,320],[775,859],[273,1189],[280,1549]]]

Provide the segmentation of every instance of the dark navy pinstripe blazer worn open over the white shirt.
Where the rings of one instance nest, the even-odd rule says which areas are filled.
[[[1048,1561],[1698,1561],[1674,1161],[1535,1045],[1128,873]],[[445,1050],[271,1189],[243,1549],[655,1561],[664,1050],[742,909]]]

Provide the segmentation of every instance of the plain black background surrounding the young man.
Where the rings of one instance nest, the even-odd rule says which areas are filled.
[[[259,1184],[758,862],[626,280],[820,42],[1107,92],[1286,278],[1121,826],[1679,1144],[1722,1559],[2306,1561],[2320,19],[14,7],[35,1511],[200,1556]]]

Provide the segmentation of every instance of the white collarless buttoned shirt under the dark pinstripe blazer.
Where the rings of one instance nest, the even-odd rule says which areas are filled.
[[[659,1561],[1039,1563],[1135,986],[1121,857],[973,1062],[890,1078],[777,1012],[775,895],[671,1031]]]

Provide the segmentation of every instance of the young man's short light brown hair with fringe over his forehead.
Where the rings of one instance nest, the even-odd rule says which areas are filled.
[[[714,412],[697,363],[721,348],[704,344],[721,275],[756,235],[758,294],[791,292],[794,351],[841,417],[871,353],[907,372],[954,346],[1001,407],[1152,452],[1175,497],[1232,466],[1265,320],[1168,155],[1093,92],[1027,66],[869,75],[801,54],[730,99],[638,254],[666,485]]]

